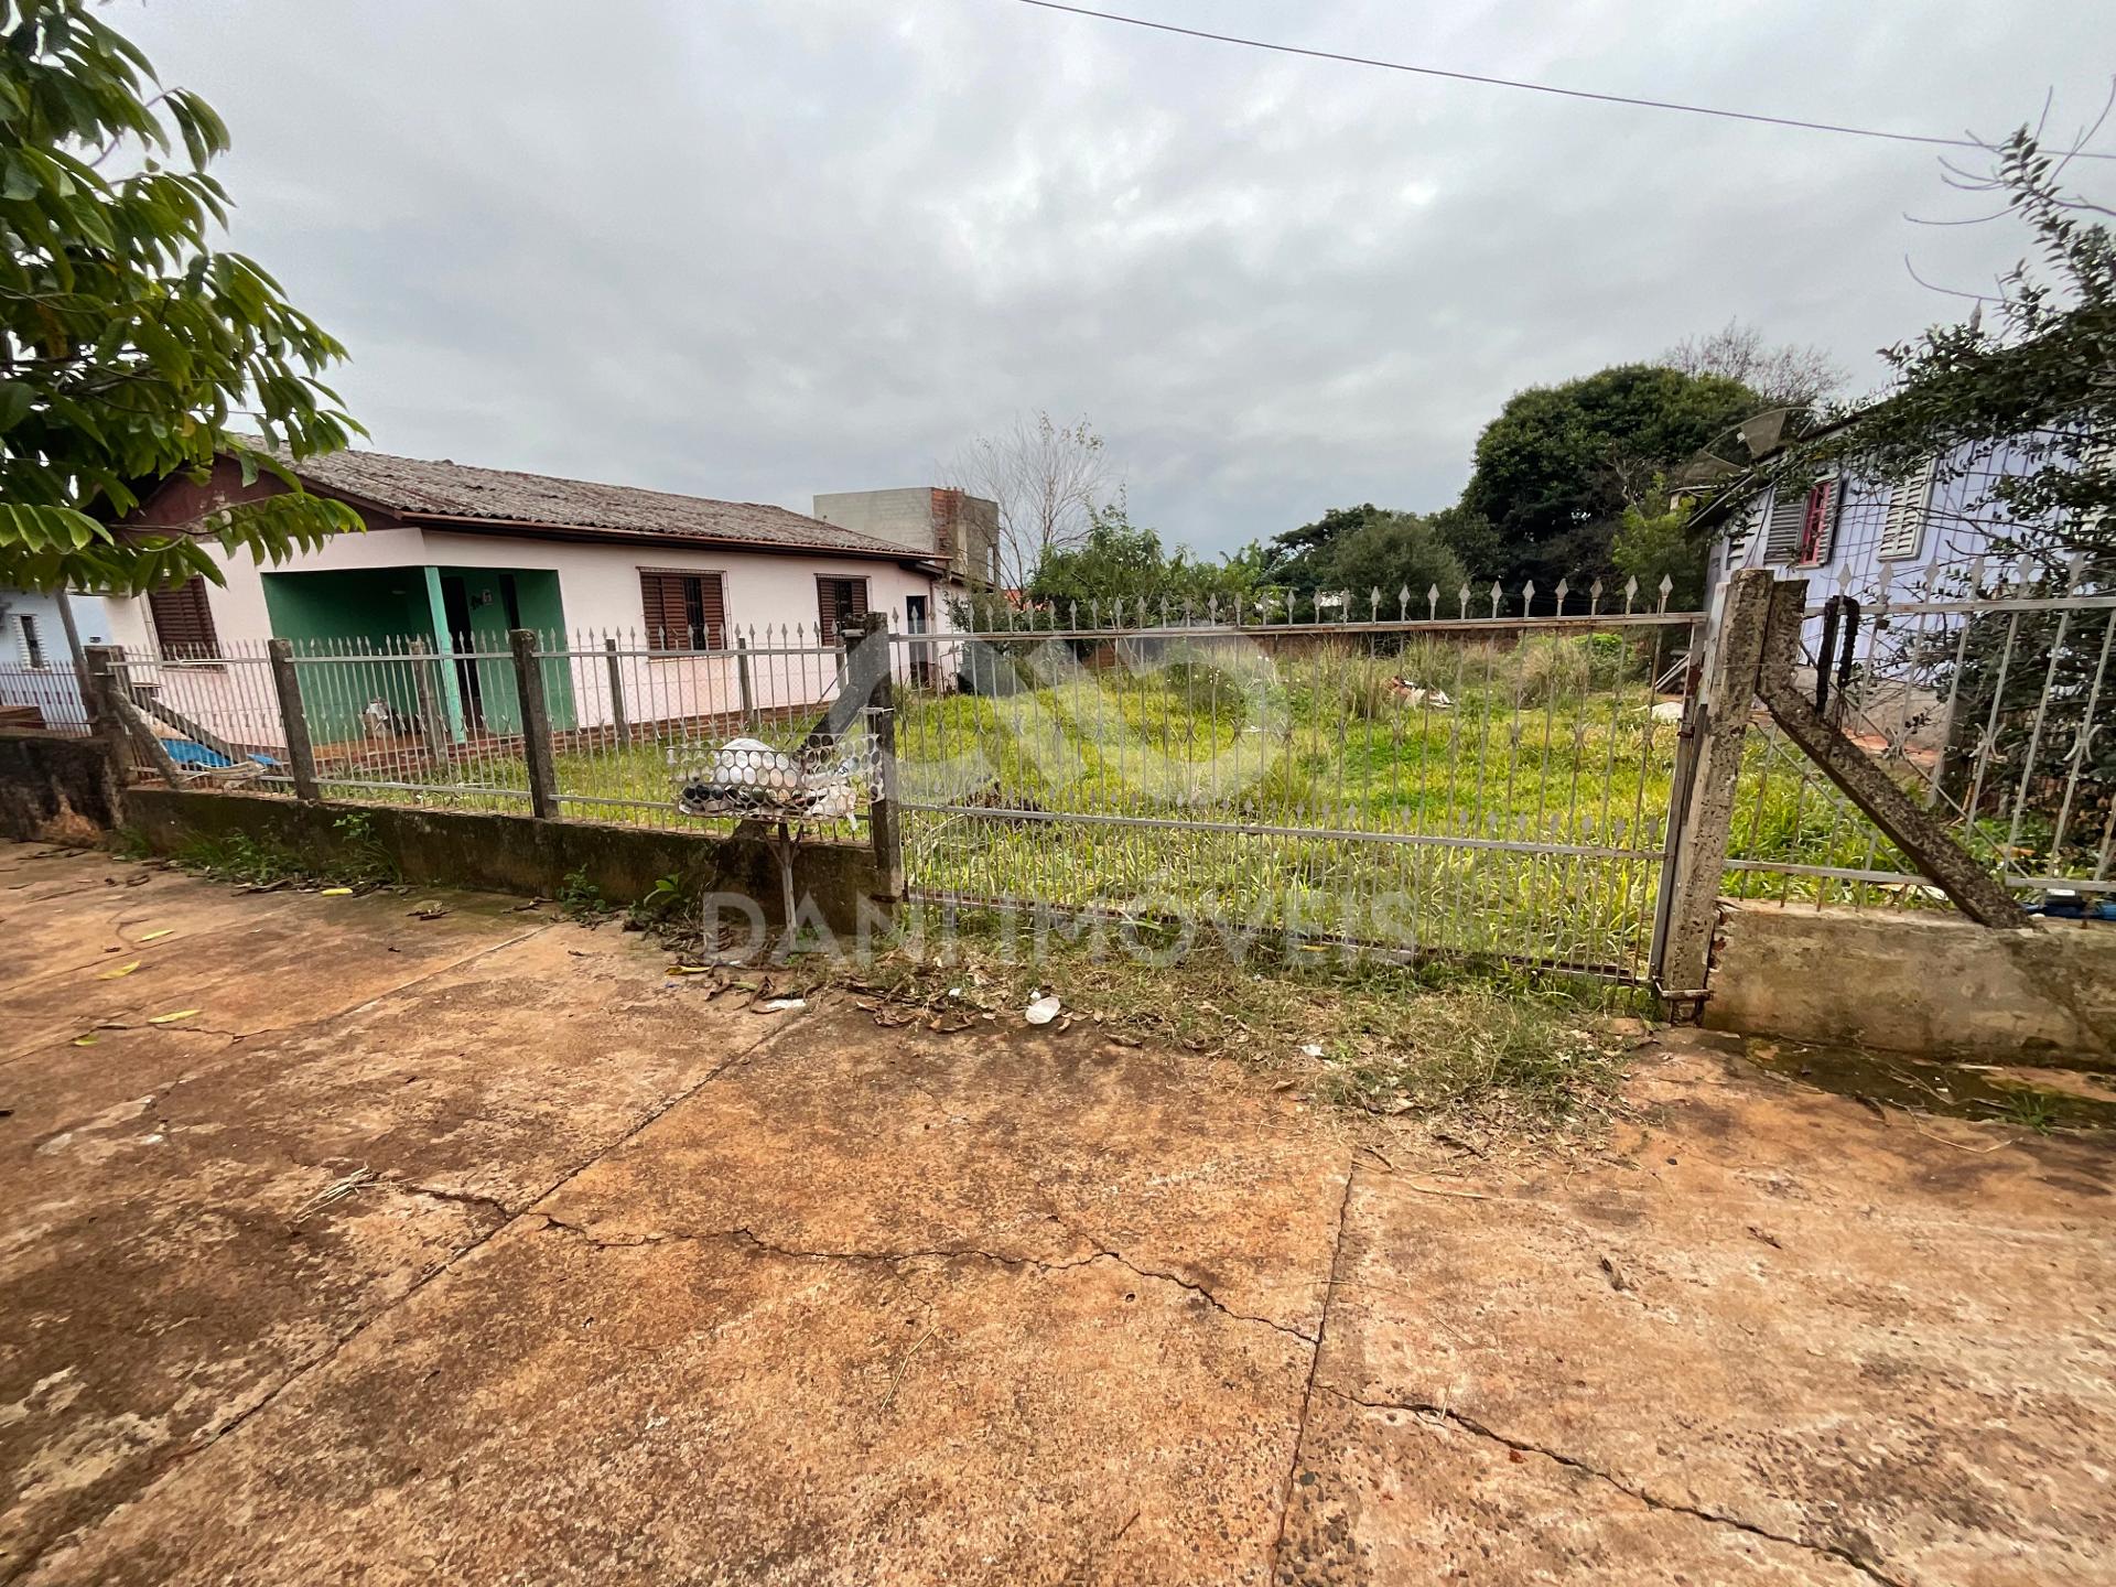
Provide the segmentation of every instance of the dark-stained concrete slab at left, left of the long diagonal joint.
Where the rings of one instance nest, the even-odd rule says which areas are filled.
[[[281,1003],[311,1014],[294,1030],[104,1030],[0,1064],[0,1579],[762,1035],[616,933],[485,920],[434,973],[328,904],[303,906],[324,978]]]

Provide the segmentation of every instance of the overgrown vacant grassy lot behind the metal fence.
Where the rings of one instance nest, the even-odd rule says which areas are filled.
[[[1684,635],[1007,647],[980,660],[978,692],[897,690],[912,884],[1638,975],[1680,734],[1653,683]],[[660,732],[561,753],[567,813],[696,827],[671,804],[679,774],[738,728]],[[745,732],[794,749],[806,722]],[[1735,855],[1898,870],[1786,755],[1752,736]],[[461,760],[449,783],[345,791],[527,806],[518,753]],[[1731,889],[1843,891],[1739,872]]]

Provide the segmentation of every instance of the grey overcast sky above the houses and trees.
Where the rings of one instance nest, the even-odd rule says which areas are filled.
[[[1904,131],[2099,110],[2103,0],[1126,0],[1566,87]],[[385,451],[808,508],[1088,415],[1225,550],[1456,497],[1517,389],[1729,315],[1873,349],[2019,256],[1934,150],[1301,61],[1016,0],[146,0],[235,245]],[[2105,133],[2116,148],[2116,133]],[[2116,163],[2088,167],[2108,197]]]

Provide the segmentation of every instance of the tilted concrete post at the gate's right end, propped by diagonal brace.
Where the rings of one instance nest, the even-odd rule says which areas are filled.
[[[1733,834],[1733,791],[1741,777],[1741,743],[1756,709],[1763,639],[1771,626],[1771,571],[1750,567],[1727,584],[1720,631],[1703,679],[1695,719],[1689,806],[1676,849],[1676,895],[1661,956],[1661,992],[1703,995],[1718,925],[1720,876]]]

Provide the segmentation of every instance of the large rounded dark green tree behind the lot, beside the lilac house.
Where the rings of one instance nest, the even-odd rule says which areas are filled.
[[[1627,506],[1763,402],[1722,375],[1619,364],[1517,394],[1477,438],[1462,508],[1485,518],[1509,586],[1615,571]],[[1481,569],[1479,569],[1481,571]]]

